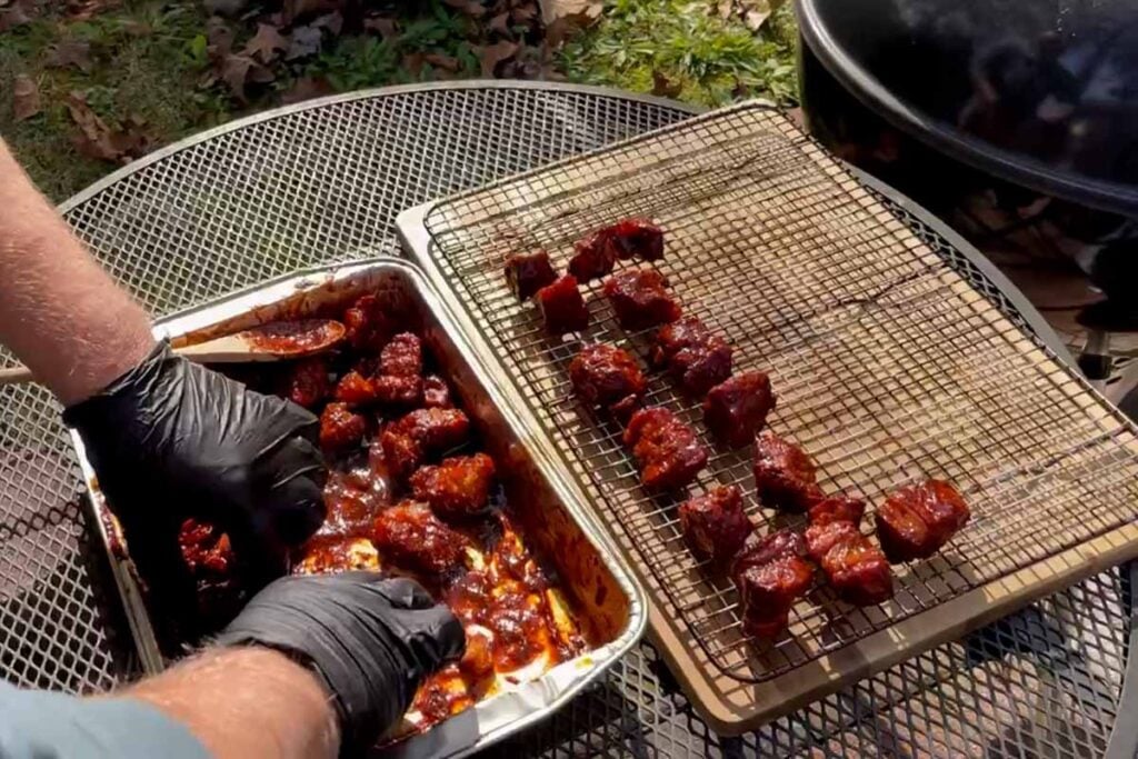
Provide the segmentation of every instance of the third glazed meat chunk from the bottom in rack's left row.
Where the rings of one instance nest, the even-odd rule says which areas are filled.
[[[650,490],[682,488],[703,469],[708,452],[691,427],[667,409],[641,409],[628,421],[625,445],[632,446],[641,481]]]

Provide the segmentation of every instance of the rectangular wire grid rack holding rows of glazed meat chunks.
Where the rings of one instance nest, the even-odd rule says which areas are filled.
[[[503,264],[544,249],[564,269],[575,241],[628,216],[663,228],[653,265],[685,314],[735,346],[736,371],[770,376],[768,426],[815,457],[824,489],[880,503],[937,477],[963,492],[972,522],[934,558],[896,568],[891,601],[856,608],[823,585],[795,604],[787,635],[749,637],[731,580],[684,546],[676,506],[688,493],[646,493],[619,424],[574,397],[568,365],[584,343],[646,362],[654,330],[621,329],[593,281],[587,330],[552,337]],[[733,678],[776,677],[1138,513],[1129,420],[1001,314],[978,272],[962,275],[770,108],[711,114],[443,200],[424,223],[431,255],[602,515]],[[753,453],[715,446],[701,399],[662,371],[648,378],[645,404],[678,412],[712,452],[691,493],[737,485],[765,529],[805,526],[754,498]]]

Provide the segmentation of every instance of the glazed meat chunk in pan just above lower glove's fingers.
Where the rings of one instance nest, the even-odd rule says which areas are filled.
[[[447,527],[427,504],[411,501],[380,512],[371,539],[386,559],[432,576],[464,567],[470,547],[470,541]]]

